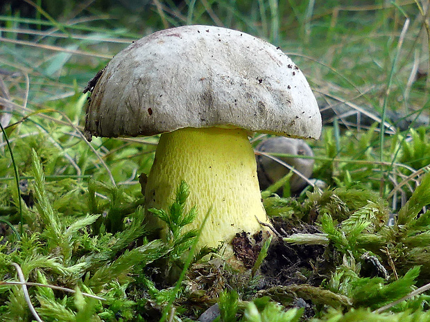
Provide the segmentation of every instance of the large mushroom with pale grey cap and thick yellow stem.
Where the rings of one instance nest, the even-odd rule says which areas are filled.
[[[226,28],[183,26],[139,39],[87,90],[87,138],[161,134],[145,208],[166,210],[186,181],[188,205],[198,211],[189,229],[208,214],[199,247],[263,229],[252,132],[318,138],[321,131],[298,66],[279,47]]]

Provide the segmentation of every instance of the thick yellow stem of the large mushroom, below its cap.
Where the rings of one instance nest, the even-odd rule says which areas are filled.
[[[189,184],[187,209],[198,216],[189,229],[200,229],[199,247],[231,242],[236,233],[265,230],[255,156],[242,129],[178,129],[162,134],[146,184],[146,209],[167,210],[180,181]]]

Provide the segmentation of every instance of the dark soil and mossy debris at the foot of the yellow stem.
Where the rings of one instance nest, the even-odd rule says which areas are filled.
[[[273,228],[285,236],[293,233],[321,232],[315,225],[285,222],[280,218],[273,220]],[[322,280],[329,277],[333,265],[330,264],[332,260],[326,259],[329,253],[327,247],[293,245],[287,244],[282,238],[277,240],[273,238],[268,255],[257,273],[257,280],[253,280],[250,271],[255,265],[264,240],[262,233],[249,235],[242,232],[238,233],[232,241],[235,256],[243,262],[246,271],[226,269],[223,260],[216,256],[208,262],[197,262],[191,265],[187,278],[183,282],[188,295],[185,301],[180,303],[183,307],[190,308],[188,316],[190,319],[196,319],[196,316],[210,310],[224,289],[238,289],[243,301],[268,295],[287,308],[304,308],[302,315],[304,319],[314,316],[316,304],[298,296],[293,291],[294,287],[291,290],[287,288],[290,285],[302,284],[318,287]],[[158,287],[163,288],[161,285]],[[287,288],[282,289],[282,287]],[[278,291],[282,294],[279,295]]]

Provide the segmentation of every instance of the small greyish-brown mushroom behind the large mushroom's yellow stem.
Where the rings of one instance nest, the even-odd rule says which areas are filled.
[[[300,172],[294,173],[290,178],[291,193],[300,193],[307,186],[308,182],[304,179],[311,177],[313,172],[313,159],[300,158],[300,156],[313,156],[312,149],[300,138],[286,138],[284,136],[273,136],[261,141],[255,150],[265,153],[291,154],[292,156],[278,156],[277,159],[293,167]],[[279,179],[287,175],[290,170],[277,160],[270,159],[268,156],[257,155],[257,174],[261,190],[265,190]]]

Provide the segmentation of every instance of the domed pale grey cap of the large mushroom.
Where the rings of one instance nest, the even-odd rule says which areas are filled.
[[[96,84],[92,84],[96,82]],[[291,59],[264,40],[214,26],[183,26],[133,42],[94,85],[87,138],[231,127],[319,138],[320,111]]]

